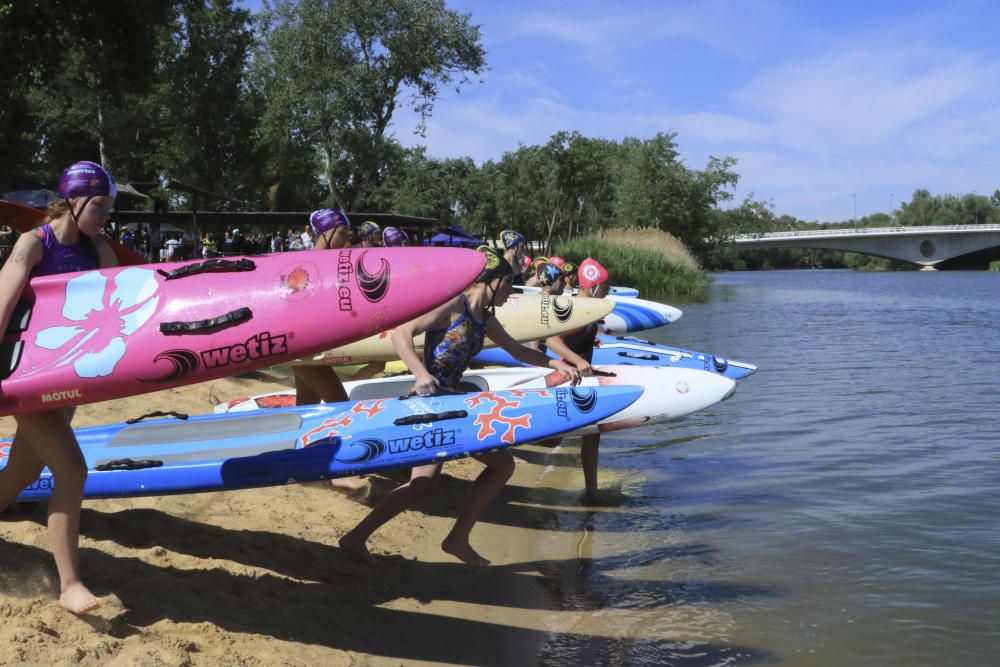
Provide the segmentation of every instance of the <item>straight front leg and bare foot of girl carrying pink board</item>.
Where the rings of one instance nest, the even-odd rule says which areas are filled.
[[[80,578],[80,505],[87,465],[62,410],[17,415],[19,444],[27,444],[53,476],[49,501],[49,540],[59,571],[59,604],[75,614],[97,607],[97,598]]]

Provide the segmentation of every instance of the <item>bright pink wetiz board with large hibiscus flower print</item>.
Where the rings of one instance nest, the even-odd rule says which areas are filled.
[[[314,250],[32,280],[0,345],[0,415],[244,373],[394,327],[444,303],[485,256]]]

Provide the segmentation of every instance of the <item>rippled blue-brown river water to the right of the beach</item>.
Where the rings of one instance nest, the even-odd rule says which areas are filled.
[[[540,545],[580,617],[541,662],[1000,661],[1000,273],[735,272],[675,305],[641,335],[760,370],[604,436],[623,499]]]

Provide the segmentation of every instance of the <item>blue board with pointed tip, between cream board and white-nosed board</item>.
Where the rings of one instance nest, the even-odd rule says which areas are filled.
[[[715,354],[682,350],[676,347],[660,345],[631,336],[607,336],[598,334],[601,346],[594,348],[592,363],[601,366],[616,364],[632,366],[676,366],[678,368],[696,368],[725,375],[733,380],[741,380],[757,371],[757,367],[735,359],[727,359]],[[551,351],[550,357],[556,355]],[[481,351],[473,361],[480,364],[497,366],[523,366],[502,348],[491,348]]]

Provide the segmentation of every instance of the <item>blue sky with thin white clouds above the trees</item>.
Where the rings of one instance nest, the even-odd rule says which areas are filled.
[[[256,3],[248,2],[249,5]],[[685,163],[738,159],[736,200],[849,220],[913,190],[1000,188],[1000,3],[451,0],[490,69],[396,138],[495,159],[559,130],[677,132]]]

